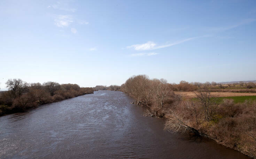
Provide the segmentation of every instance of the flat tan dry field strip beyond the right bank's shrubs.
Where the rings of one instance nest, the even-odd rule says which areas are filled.
[[[180,94],[181,96],[184,96],[184,97],[191,97],[191,98],[196,97],[194,92],[174,91],[174,93]],[[213,96],[213,97],[256,96],[256,93],[211,92],[211,96]]]

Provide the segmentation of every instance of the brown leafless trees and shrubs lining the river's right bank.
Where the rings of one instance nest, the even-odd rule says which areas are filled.
[[[178,85],[178,89],[193,88],[188,82]],[[168,118],[165,129],[207,136],[250,157],[256,156],[255,101],[219,101],[211,98],[207,86],[194,91],[196,99],[187,99],[174,94],[176,87],[166,80],[149,79],[146,75],[132,76],[120,90],[133,97],[135,104],[148,107],[144,115]]]

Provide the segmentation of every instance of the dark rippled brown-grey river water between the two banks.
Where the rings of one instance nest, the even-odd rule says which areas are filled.
[[[119,91],[96,91],[0,117],[0,158],[247,158],[216,142],[164,131]]]

